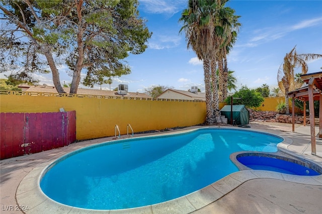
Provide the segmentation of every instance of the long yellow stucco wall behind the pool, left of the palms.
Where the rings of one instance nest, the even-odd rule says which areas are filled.
[[[3,113],[59,112],[60,108],[76,111],[77,140],[114,136],[115,125],[126,134],[127,124],[141,132],[198,125],[206,117],[206,103],[198,101],[0,95]]]

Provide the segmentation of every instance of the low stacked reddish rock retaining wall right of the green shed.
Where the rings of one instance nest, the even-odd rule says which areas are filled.
[[[261,122],[276,122],[276,123],[292,123],[292,115],[279,115],[278,112],[272,111],[254,111],[250,110],[250,122],[261,121]],[[295,115],[295,123],[303,124],[304,117]],[[306,117],[306,124],[309,124],[309,117]]]

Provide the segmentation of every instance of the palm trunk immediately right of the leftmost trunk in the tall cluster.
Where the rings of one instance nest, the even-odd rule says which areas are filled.
[[[215,57],[211,60],[211,88],[212,88],[212,109],[217,123],[221,123],[219,99],[218,99],[218,80],[216,74],[216,60]]]

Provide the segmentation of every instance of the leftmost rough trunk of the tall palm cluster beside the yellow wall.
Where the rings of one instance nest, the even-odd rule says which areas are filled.
[[[211,71],[209,60],[203,60],[203,71],[204,71],[204,81],[206,90],[206,123],[212,125],[214,123],[214,115],[212,109],[212,97],[211,97]]]

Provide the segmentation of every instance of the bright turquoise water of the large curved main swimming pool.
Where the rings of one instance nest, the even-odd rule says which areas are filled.
[[[222,128],[119,140],[60,158],[40,186],[50,198],[81,208],[144,206],[186,195],[238,171],[229,159],[233,152],[276,152],[282,140]]]

